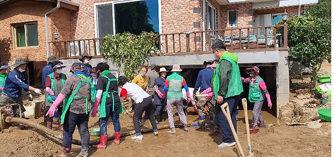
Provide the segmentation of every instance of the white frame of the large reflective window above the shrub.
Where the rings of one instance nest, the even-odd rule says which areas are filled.
[[[112,2],[101,2],[101,3],[94,3],[94,26],[95,26],[95,38],[99,38],[98,36],[98,23],[97,23],[97,12],[96,7],[101,5],[112,5],[112,12],[113,12],[113,34],[116,34],[116,24],[115,24],[115,4],[122,4],[122,3],[130,3],[130,2],[138,2],[143,0],[117,0]],[[158,14],[159,14],[159,33],[162,33],[162,22],[161,22],[161,0],[158,0]]]

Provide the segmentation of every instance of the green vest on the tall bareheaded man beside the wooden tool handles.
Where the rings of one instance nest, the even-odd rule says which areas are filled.
[[[232,58],[234,58],[234,60]],[[241,75],[240,75],[239,65],[237,63],[238,56],[236,54],[232,54],[232,53],[229,53],[229,52],[226,51],[223,54],[223,56],[221,56],[221,58],[219,59],[219,62],[217,64],[217,68],[216,68],[216,70],[214,72],[214,75],[213,75],[212,86],[213,86],[213,92],[214,92],[214,96],[215,96],[216,100],[217,100],[218,91],[219,91],[219,88],[220,88],[219,66],[220,66],[220,62],[222,60],[227,60],[232,64],[230,78],[229,78],[229,82],[228,82],[227,93],[225,94],[225,96],[223,98],[228,98],[228,97],[240,95],[240,93],[242,93],[244,91],[243,86],[242,86],[242,82],[241,82]]]

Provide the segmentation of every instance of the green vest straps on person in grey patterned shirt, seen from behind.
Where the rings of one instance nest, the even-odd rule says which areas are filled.
[[[72,92],[72,94],[70,96],[67,96],[63,102],[63,107],[62,107],[62,112],[61,112],[61,124],[64,123],[64,119],[65,119],[65,114],[68,111],[68,109],[70,108],[70,105],[73,101],[74,98],[79,98],[79,99],[86,99],[86,114],[88,114],[88,103],[89,103],[89,98],[88,97],[84,97],[84,96],[75,96],[77,94],[77,92],[79,91],[79,88],[81,87],[82,83],[87,83],[90,84],[90,87],[93,85],[89,79],[84,75],[84,74],[76,74],[74,76],[79,77],[81,80],[79,82],[79,84],[77,85],[77,87],[75,88],[75,90]]]

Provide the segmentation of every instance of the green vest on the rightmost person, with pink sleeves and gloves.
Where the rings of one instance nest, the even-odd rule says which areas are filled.
[[[250,102],[259,102],[264,100],[264,94],[259,89],[259,82],[263,81],[260,76],[257,76],[255,83],[252,85],[252,81],[249,83],[248,100]]]

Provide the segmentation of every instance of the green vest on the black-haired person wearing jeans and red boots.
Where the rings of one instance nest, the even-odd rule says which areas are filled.
[[[99,107],[99,117],[100,118],[106,117],[106,101],[107,101],[107,98],[110,98],[110,95],[113,99],[113,112],[114,112],[114,108],[115,108],[114,93],[117,93],[118,91],[112,91],[112,92],[108,92],[108,91],[109,91],[110,82],[116,81],[117,84],[118,84],[118,79],[117,78],[109,78],[107,76],[107,74],[109,74],[109,73],[111,73],[110,70],[105,70],[100,74],[100,77],[105,77],[105,78],[108,79],[107,87],[106,87],[106,90],[102,93],[101,105]],[[123,113],[123,112],[124,112],[123,106],[122,106],[121,103],[119,103],[118,113]]]

